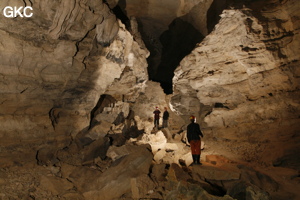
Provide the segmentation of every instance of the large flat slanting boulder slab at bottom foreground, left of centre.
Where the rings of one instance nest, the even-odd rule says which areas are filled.
[[[86,199],[116,199],[131,190],[132,178],[149,173],[153,155],[145,146],[132,146],[132,152],[117,160],[100,176],[86,183]],[[117,188],[117,190],[116,190]]]

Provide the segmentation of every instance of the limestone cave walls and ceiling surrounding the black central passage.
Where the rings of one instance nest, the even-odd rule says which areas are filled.
[[[34,9],[32,18],[1,16],[1,144],[66,145],[80,131],[92,128],[95,113],[91,112],[97,111],[102,95],[112,96],[123,113],[129,115],[130,106],[151,121],[155,104],[167,103],[150,102],[154,97],[145,94],[147,87],[157,91],[150,86],[153,83],[147,84],[149,51],[136,24],[150,35],[157,34],[157,39],[173,20],[182,20],[205,38],[175,71],[172,110],[184,120],[196,115],[207,138],[224,147],[234,143],[232,150],[249,160],[298,166],[297,160],[287,159],[297,158],[299,141],[296,0],[164,1],[167,11],[156,1],[106,3],[0,3],[1,8]],[[118,4],[125,5],[130,32],[108,7]],[[225,7],[220,21],[211,20]],[[162,16],[168,17],[159,20]],[[212,29],[209,21],[218,24]],[[149,102],[143,108],[145,99]],[[281,150],[272,154],[277,146]]]

